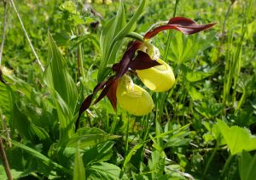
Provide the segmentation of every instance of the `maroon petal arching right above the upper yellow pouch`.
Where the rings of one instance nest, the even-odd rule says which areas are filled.
[[[211,28],[213,25],[215,25],[215,23],[210,23],[207,25],[198,25],[194,20],[189,20],[183,17],[176,17],[169,20],[167,25],[161,25],[159,27],[156,27],[152,31],[148,31],[145,34],[144,39],[149,39],[151,37],[154,37],[160,31],[171,30],[171,29],[181,31],[183,34],[188,34],[188,35],[194,34],[199,31],[207,30]]]

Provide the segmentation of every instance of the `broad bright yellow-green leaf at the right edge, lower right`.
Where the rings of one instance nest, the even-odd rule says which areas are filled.
[[[218,127],[229,146],[231,155],[241,153],[242,150],[251,151],[256,149],[256,137],[252,136],[248,129],[237,126],[228,127],[221,120],[218,120]]]

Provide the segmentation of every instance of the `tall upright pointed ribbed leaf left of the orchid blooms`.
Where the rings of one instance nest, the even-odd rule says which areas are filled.
[[[57,48],[54,39],[49,39],[49,65],[44,72],[44,80],[54,97],[61,138],[72,133],[73,114],[78,100],[78,90],[72,77],[68,74],[66,60]]]

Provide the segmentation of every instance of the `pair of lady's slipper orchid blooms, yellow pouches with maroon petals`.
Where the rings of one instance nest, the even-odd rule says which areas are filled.
[[[131,77],[127,75],[128,71],[134,72],[143,84],[154,92],[164,92],[175,82],[172,68],[160,59],[158,48],[149,43],[150,38],[160,31],[171,29],[181,31],[183,34],[194,34],[207,30],[213,25],[215,24],[198,25],[194,20],[176,17],[169,20],[166,25],[160,25],[148,31],[143,37],[144,41],[131,42],[119,63],[112,66],[115,75],[110,76],[106,82],[98,83],[93,93],[84,99],[76,121],[76,129],[79,127],[80,116],[90,107],[94,96],[100,90],[102,92],[94,104],[107,95],[114,110],[119,104],[122,109],[132,115],[147,115],[154,108],[153,100],[145,89],[132,82]]]

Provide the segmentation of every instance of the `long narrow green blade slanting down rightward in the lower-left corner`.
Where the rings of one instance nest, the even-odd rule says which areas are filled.
[[[22,143],[18,143],[14,140],[11,141],[15,146],[17,146],[18,148],[20,149],[23,149],[23,150],[26,150],[26,152],[29,154],[29,155],[32,155],[36,158],[38,158],[38,160],[42,160],[42,162],[47,165],[47,166],[52,166],[53,168],[56,168],[56,169],[59,169],[61,170],[62,172],[67,172],[69,174],[72,174],[72,172],[68,169],[66,169],[65,167],[59,165],[58,163],[56,163],[55,161],[53,160],[50,160],[48,157],[46,157],[45,155],[39,153],[37,150],[35,149],[32,149]]]

